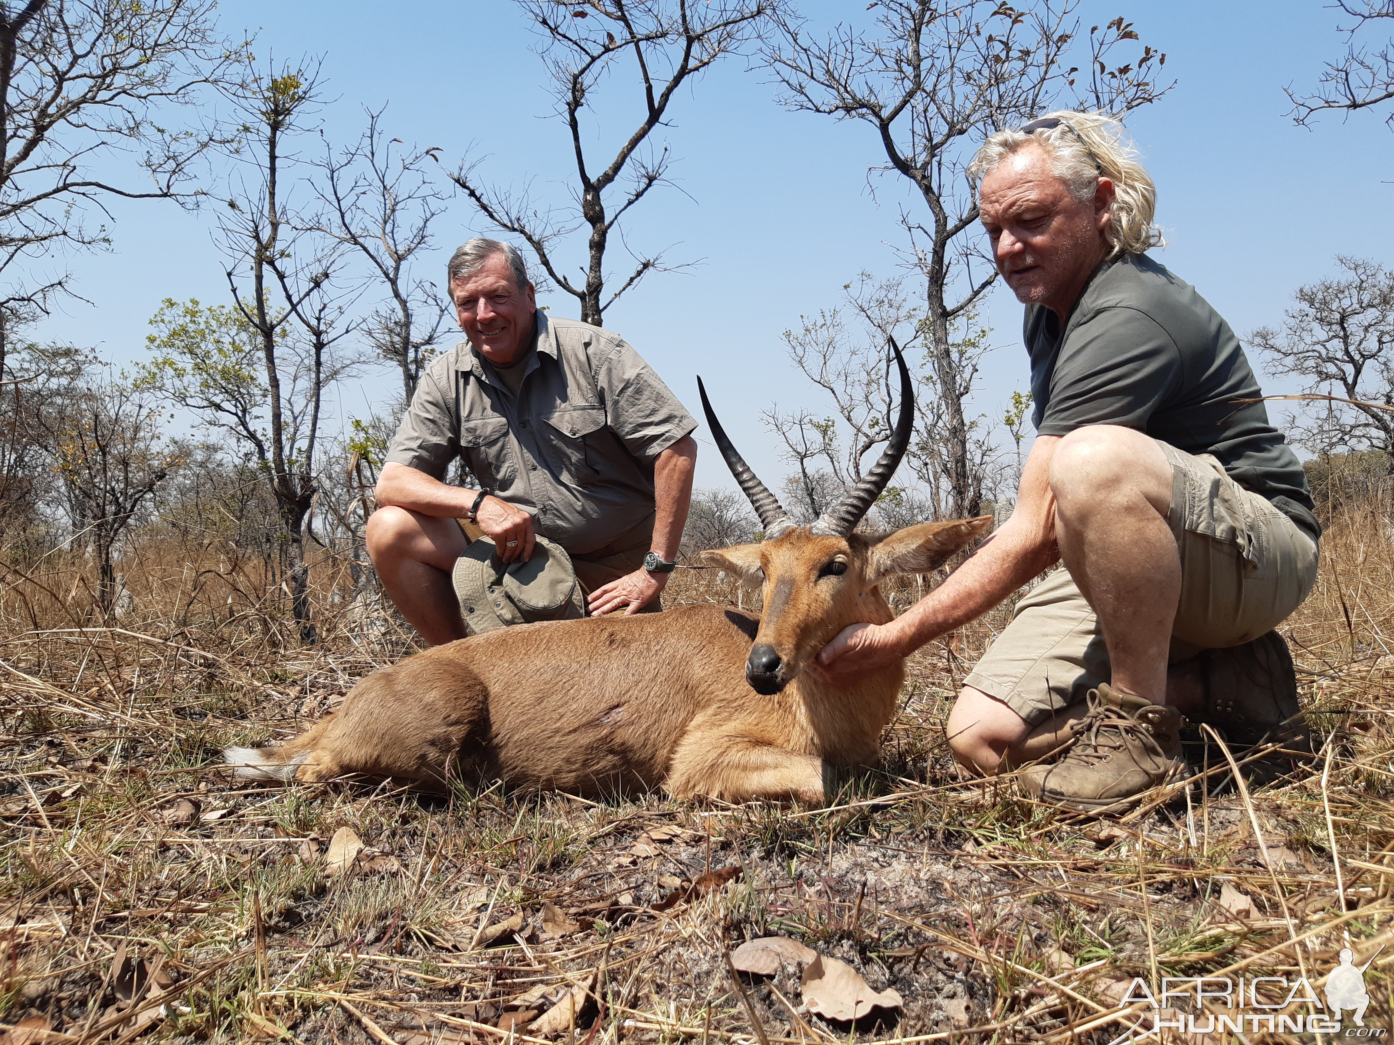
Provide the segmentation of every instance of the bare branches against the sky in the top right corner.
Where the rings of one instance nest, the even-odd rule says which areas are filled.
[[[1285,88],[1289,116],[1302,127],[1319,113],[1355,113],[1394,100],[1394,0],[1337,0],[1335,8],[1351,20],[1341,26],[1345,54],[1326,63],[1313,93]],[[1394,106],[1384,123],[1394,127]]]

